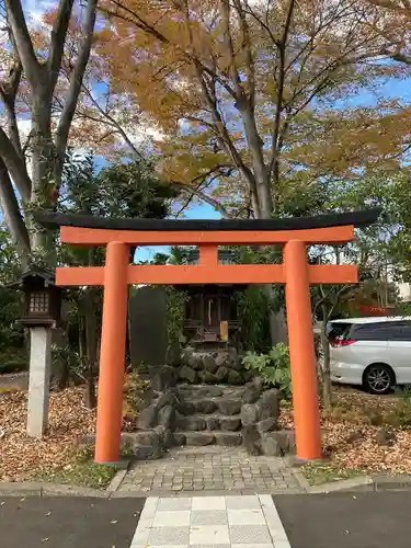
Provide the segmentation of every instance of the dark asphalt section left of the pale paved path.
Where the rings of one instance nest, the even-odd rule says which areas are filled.
[[[0,499],[1,548],[129,548],[145,499]]]

